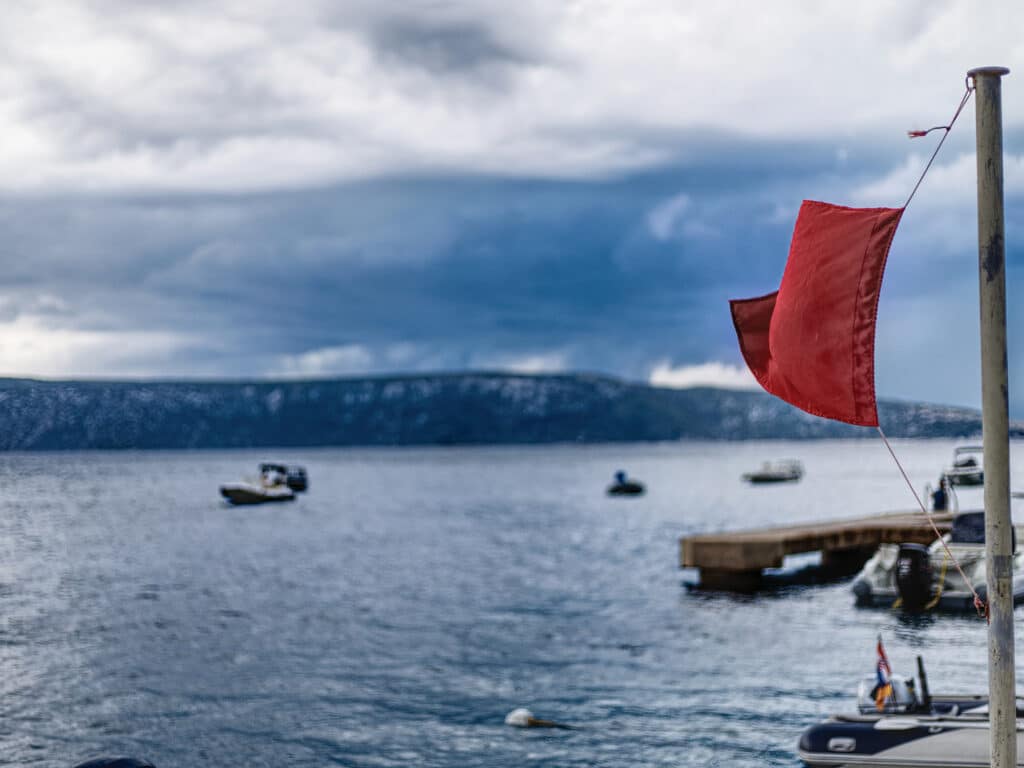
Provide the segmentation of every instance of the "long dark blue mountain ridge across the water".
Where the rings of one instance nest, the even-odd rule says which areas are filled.
[[[880,403],[899,437],[980,434],[981,415]],[[1024,426],[1012,425],[1015,436]],[[239,382],[0,379],[0,451],[452,445],[866,437],[764,392],[590,374]]]

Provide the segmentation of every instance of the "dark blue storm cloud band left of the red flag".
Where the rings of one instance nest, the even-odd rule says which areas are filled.
[[[414,368],[555,350],[634,378],[662,358],[734,359],[725,300],[777,284],[793,226],[779,201],[795,210],[797,185],[834,184],[820,180],[833,152],[737,140],[722,163],[694,154],[606,181],[8,199],[0,295],[56,297],[77,328],[184,334],[208,374],[346,345],[382,366],[404,345]],[[224,349],[237,358],[217,368]]]

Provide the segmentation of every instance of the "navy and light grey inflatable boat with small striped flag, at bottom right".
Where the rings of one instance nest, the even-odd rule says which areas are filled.
[[[860,683],[857,712],[831,715],[801,734],[800,759],[812,768],[984,768],[989,765],[988,698],[932,696],[919,659],[921,690],[892,677],[893,695],[880,711],[876,678]],[[1017,700],[1018,766],[1024,765],[1024,717]]]

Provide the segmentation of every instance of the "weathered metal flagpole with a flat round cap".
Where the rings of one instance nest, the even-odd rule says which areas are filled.
[[[978,272],[981,304],[981,418],[985,468],[985,557],[988,572],[988,718],[993,768],[1016,768],[1017,701],[1010,519],[1007,279],[1002,222],[1005,67],[980,67],[976,89]]]

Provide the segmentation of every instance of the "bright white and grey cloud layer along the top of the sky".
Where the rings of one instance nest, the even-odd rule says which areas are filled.
[[[897,135],[944,116],[967,68],[996,53],[1019,63],[1024,8],[986,7],[24,4],[0,32],[0,185],[580,178],[692,158],[694,132]],[[1007,117],[1024,111],[1008,102]]]

